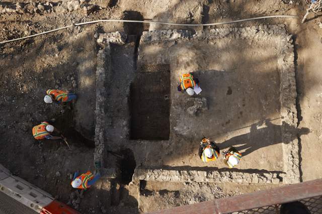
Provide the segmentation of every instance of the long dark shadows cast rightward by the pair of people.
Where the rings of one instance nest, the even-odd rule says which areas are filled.
[[[263,125],[265,128],[260,128]],[[282,132],[285,133],[282,139]],[[235,147],[243,156],[246,156],[260,148],[267,147],[279,143],[290,143],[295,138],[301,135],[307,135],[310,132],[308,128],[297,129],[283,122],[282,125],[271,123],[270,119],[252,124],[250,132],[244,135],[239,135],[229,140],[218,144],[219,148],[225,149],[229,146]]]

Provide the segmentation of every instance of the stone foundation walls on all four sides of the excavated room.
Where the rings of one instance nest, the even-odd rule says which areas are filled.
[[[234,183],[296,183],[300,181],[298,140],[296,133],[296,82],[294,71],[294,51],[291,35],[286,33],[284,25],[262,25],[245,28],[219,28],[203,32],[192,33],[188,30],[159,30],[143,32],[140,45],[149,43],[165,43],[168,41],[198,41],[228,37],[231,39],[269,39],[276,38],[277,47],[280,48],[281,57],[278,60],[281,75],[281,117],[283,142],[283,172],[247,173],[236,170],[166,170],[166,169],[139,169],[135,170],[133,179],[174,182],[234,182]],[[111,68],[110,42],[124,44],[126,36],[114,32],[100,34],[98,43],[104,47],[98,54],[97,68],[97,124],[95,132],[95,160],[102,161],[104,151],[104,100],[106,91],[104,83]],[[139,56],[140,59],[140,56]],[[292,128],[292,129],[290,129]]]

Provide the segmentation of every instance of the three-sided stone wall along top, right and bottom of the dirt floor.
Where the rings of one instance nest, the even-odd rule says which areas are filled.
[[[277,47],[280,48],[281,58],[278,60],[280,70],[281,89],[281,117],[282,117],[282,148],[285,173],[279,174],[283,183],[297,183],[300,181],[299,173],[299,147],[296,133],[291,131],[296,129],[296,82],[294,70],[294,50],[292,45],[292,35],[288,35],[284,25],[259,25],[244,28],[215,28],[193,33],[189,30],[156,30],[143,32],[140,40],[140,47],[144,45],[159,43],[174,43],[181,41],[200,41],[221,38],[231,39],[270,39],[276,38]],[[144,57],[144,56],[139,56]],[[146,174],[144,174],[146,173]],[[147,170],[137,169],[138,179],[151,179],[160,181],[194,181],[200,182],[273,182],[272,173],[248,174],[241,172],[204,172],[204,171],[175,171],[175,170]],[[215,176],[213,176],[215,175]],[[185,178],[187,176],[187,178]],[[258,180],[257,180],[258,179]],[[275,183],[277,179],[274,179]]]

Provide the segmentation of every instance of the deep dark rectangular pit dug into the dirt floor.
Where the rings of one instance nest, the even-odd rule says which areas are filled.
[[[140,68],[130,87],[130,115],[131,140],[169,140],[169,65]]]

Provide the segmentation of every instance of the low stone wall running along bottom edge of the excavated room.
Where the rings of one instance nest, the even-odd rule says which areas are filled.
[[[222,170],[167,170],[136,168],[133,180],[167,182],[233,182],[233,183],[273,183],[281,182],[284,173],[246,173]]]

